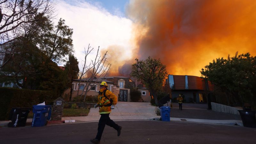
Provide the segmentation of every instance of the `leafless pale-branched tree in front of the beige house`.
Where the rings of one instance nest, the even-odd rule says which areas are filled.
[[[79,79],[78,91],[76,94],[76,96],[78,96],[79,87],[80,87],[81,82],[85,82],[84,89],[81,94],[82,96],[84,96],[83,101],[85,101],[87,92],[90,91],[91,84],[96,84],[95,85],[95,88],[96,88],[97,85],[100,82],[102,82],[103,79],[106,77],[106,75],[109,73],[109,70],[111,67],[111,64],[108,63],[107,58],[106,58],[107,52],[105,52],[105,54],[103,56],[101,56],[99,54],[100,46],[98,47],[95,59],[91,60],[90,64],[86,64],[86,62],[88,61],[88,55],[91,53],[92,50],[93,50],[93,48],[91,48],[90,44],[89,44],[87,51],[85,51],[83,69],[82,69],[81,76]],[[87,74],[87,76],[84,76],[85,74]],[[85,77],[84,80],[82,80],[82,77]],[[93,81],[93,80],[95,80],[95,81]]]

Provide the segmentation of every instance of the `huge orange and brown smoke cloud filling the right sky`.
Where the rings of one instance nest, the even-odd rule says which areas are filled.
[[[201,76],[201,68],[213,59],[236,51],[255,56],[255,9],[254,0],[130,1],[135,48],[128,61],[110,60],[110,75],[129,76],[134,59],[148,56],[160,59],[169,74],[193,76]]]

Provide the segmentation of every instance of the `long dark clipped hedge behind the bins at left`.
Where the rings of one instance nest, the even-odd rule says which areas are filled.
[[[45,101],[51,105],[56,92],[0,87],[0,120],[7,120],[12,107],[30,107]]]

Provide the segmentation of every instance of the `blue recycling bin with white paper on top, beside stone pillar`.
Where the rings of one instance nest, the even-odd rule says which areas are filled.
[[[47,124],[47,120],[50,120],[52,114],[52,106],[33,106],[33,120],[32,127],[44,126]]]

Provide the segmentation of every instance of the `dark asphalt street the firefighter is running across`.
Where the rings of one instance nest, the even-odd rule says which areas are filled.
[[[256,129],[242,126],[163,121],[116,121],[121,135],[106,126],[101,144],[255,144]],[[91,144],[97,122],[0,128],[1,144]]]

